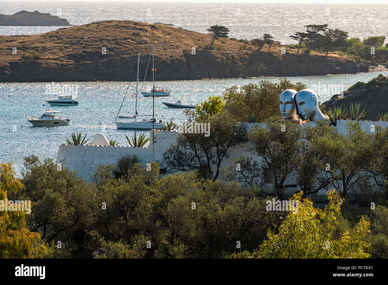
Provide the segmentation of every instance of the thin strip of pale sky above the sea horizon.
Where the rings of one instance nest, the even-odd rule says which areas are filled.
[[[4,0],[3,0],[4,1]],[[14,0],[6,0],[14,1]],[[37,1],[37,0],[24,0],[24,1]],[[74,0],[49,0],[50,2],[59,1],[74,1]],[[104,1],[104,2],[213,2],[213,3],[348,3],[348,4],[388,4],[388,0],[83,0],[83,1]]]

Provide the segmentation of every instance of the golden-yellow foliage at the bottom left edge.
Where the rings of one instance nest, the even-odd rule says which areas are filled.
[[[40,234],[26,228],[25,211],[5,210],[11,206],[10,202],[5,205],[7,194],[15,196],[23,189],[12,163],[0,163],[0,258],[34,258],[47,250],[41,244]]]

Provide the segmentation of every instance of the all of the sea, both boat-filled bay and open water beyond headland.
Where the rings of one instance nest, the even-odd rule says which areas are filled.
[[[201,33],[213,24],[229,27],[230,36],[258,38],[270,33],[281,43],[292,43],[290,32],[303,31],[303,25],[329,23],[329,26],[348,31],[351,37],[365,38],[384,35],[388,38],[388,5],[361,4],[268,4],[268,3],[163,3],[163,2],[50,2],[7,1],[0,2],[0,14],[13,14],[21,10],[50,13],[66,18],[71,24],[81,25],[101,20],[133,20],[163,22]],[[0,35],[31,35],[53,31],[62,27],[0,26]],[[314,89],[321,102],[341,93],[358,81],[367,82],[379,74],[373,72],[326,76],[289,77],[291,82],[301,82]],[[155,98],[156,119],[176,122],[185,120],[182,109],[171,109],[162,102],[199,104],[209,96],[222,95],[226,88],[258,83],[260,80],[279,82],[280,78],[207,79],[158,81],[157,86],[171,89],[170,97]],[[23,170],[24,157],[35,154],[43,161],[55,161],[59,146],[66,143],[71,133],[82,132],[89,142],[97,133],[104,133],[108,140],[129,145],[125,135],[134,131],[117,130],[114,123],[120,114],[135,112],[135,84],[128,82],[55,82],[59,90],[68,88],[79,105],[52,106],[45,102],[55,98],[57,87],[52,83],[0,83],[0,162],[14,162],[18,176]],[[129,85],[129,88],[128,88]],[[152,82],[139,85],[149,89]],[[126,90],[128,88],[128,93]],[[125,96],[126,95],[126,96]],[[132,96],[134,95],[134,96]],[[125,96],[125,100],[124,99]],[[152,117],[152,97],[137,98],[140,115]],[[39,117],[44,111],[60,111],[57,117],[70,119],[68,126],[33,127],[28,117]],[[121,120],[121,119],[118,119]],[[123,119],[125,120],[125,119]]]

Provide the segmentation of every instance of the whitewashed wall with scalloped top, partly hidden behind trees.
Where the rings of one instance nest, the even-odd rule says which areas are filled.
[[[381,125],[383,128],[386,128],[387,122],[376,122],[376,121],[360,121],[361,128],[364,131],[371,133],[373,126]],[[338,128],[342,133],[347,134],[346,123],[348,121],[338,121],[337,126],[332,128]],[[250,130],[255,124],[245,123],[248,130]],[[259,125],[265,128],[264,123],[259,123]],[[315,122],[308,122],[304,124],[305,126],[315,126]],[[115,164],[117,159],[125,154],[136,153],[140,156],[143,161],[143,164],[151,161],[162,161],[163,153],[166,148],[170,147],[171,143],[175,142],[177,136],[177,131],[154,131],[154,157],[152,159],[152,131],[150,131],[150,145],[149,147],[144,148],[133,148],[133,147],[107,147],[107,146],[97,146],[97,145],[85,145],[85,146],[74,146],[74,145],[61,145],[59,147],[57,155],[57,163],[61,163],[62,166],[69,168],[70,170],[75,170],[78,173],[78,176],[85,178],[87,181],[90,181],[90,176],[94,175],[97,166],[100,164]],[[114,139],[114,138],[112,138]],[[229,164],[234,165],[234,161],[240,155],[254,157],[256,160],[260,161],[260,157],[252,155],[247,152],[243,147],[236,146],[229,149],[229,157],[224,159],[221,163],[221,168],[226,168]],[[217,169],[212,169],[216,173]],[[222,180],[221,175],[219,176]],[[286,183],[293,184],[293,178],[286,181]],[[267,190],[273,188],[273,185],[267,185]],[[326,191],[321,191],[319,195],[324,196]]]

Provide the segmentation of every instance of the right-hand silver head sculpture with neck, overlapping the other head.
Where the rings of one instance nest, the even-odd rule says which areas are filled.
[[[310,119],[311,121],[324,120],[322,112],[318,107],[318,95],[314,90],[303,89],[294,96],[294,105],[296,113],[302,120]]]

